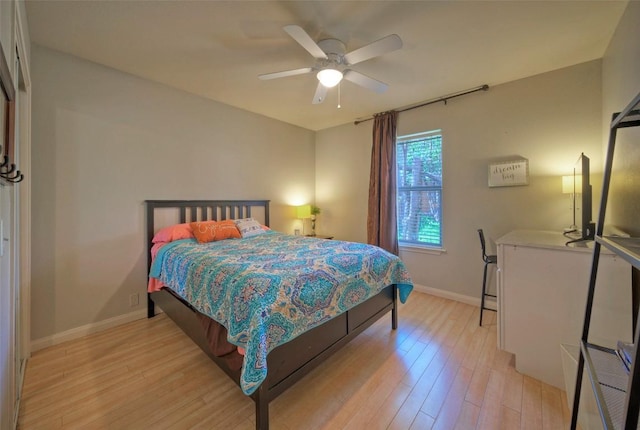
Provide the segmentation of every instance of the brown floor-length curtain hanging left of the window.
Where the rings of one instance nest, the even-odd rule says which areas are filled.
[[[396,124],[398,112],[376,114],[373,122],[367,242],[398,255],[396,219]]]

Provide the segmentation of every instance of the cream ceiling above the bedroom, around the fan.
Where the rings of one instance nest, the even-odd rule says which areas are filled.
[[[626,1],[33,1],[31,41],[310,130],[601,58]],[[317,80],[258,75],[311,67],[283,27],[347,51],[389,34],[403,48],[353,69],[352,82],[312,104]]]

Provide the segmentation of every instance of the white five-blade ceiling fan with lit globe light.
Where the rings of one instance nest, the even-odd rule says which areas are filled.
[[[347,53],[345,44],[338,39],[324,39],[316,43],[302,27],[297,25],[287,25],[284,31],[316,59],[316,64],[313,67],[266,73],[259,75],[258,78],[267,80],[317,72],[319,82],[313,96],[313,104],[322,103],[327,90],[338,85],[343,78],[377,93],[384,92],[388,88],[387,84],[349,67],[402,48],[402,39],[397,34],[383,37]]]

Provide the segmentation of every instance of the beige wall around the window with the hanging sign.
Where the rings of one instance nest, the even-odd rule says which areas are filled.
[[[414,282],[479,297],[482,261],[476,230],[493,242],[513,229],[562,231],[572,221],[561,175],[580,152],[601,156],[601,64],[592,61],[403,112],[398,134],[442,129],[444,248],[440,255],[402,251]],[[366,241],[371,122],[317,133],[319,231]],[[489,188],[488,164],[522,156],[530,185]],[[598,175],[594,195],[599,195]]]

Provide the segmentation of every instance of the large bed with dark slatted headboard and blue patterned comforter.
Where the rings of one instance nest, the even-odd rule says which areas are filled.
[[[147,200],[146,218],[148,317],[155,315],[158,305],[253,399],[259,430],[269,428],[271,400],[389,311],[396,329],[398,296],[404,301],[412,289],[402,262],[376,247],[270,230],[268,200]],[[205,244],[192,238],[160,247],[154,243],[162,227],[208,220],[251,220],[263,231]],[[368,263],[369,253],[376,258],[383,254],[388,261]],[[278,261],[267,260],[274,255]],[[319,260],[331,266],[309,263],[315,255],[326,256]],[[206,261],[206,266],[189,258],[198,265]],[[367,263],[352,265],[353,259]],[[310,285],[333,280],[336,267],[338,272],[355,267],[361,271],[344,281],[344,293],[334,292],[337,287],[326,297],[324,290],[309,291]],[[285,270],[286,276],[281,276]],[[264,291],[277,293],[258,305],[245,300],[267,284]],[[315,305],[318,301],[322,306]],[[246,315],[239,317],[243,312]]]

